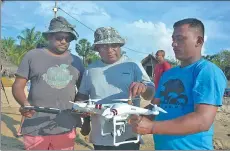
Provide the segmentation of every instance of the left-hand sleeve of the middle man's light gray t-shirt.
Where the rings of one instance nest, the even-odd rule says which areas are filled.
[[[89,79],[89,71],[85,70],[82,80],[81,80],[81,85],[79,88],[79,93],[84,94],[84,95],[89,95],[90,94],[90,79]]]

